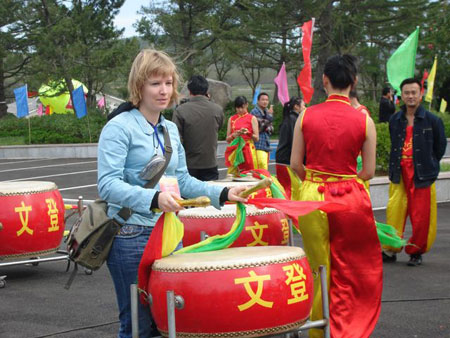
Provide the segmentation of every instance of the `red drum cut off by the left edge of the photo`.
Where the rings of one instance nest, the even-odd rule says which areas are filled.
[[[0,182],[0,260],[55,252],[64,234],[64,202],[53,182]]]

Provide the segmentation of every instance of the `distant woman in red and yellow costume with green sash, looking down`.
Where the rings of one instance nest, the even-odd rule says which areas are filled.
[[[254,141],[259,140],[258,121],[248,112],[245,96],[234,100],[236,114],[231,116],[227,125],[227,142],[231,143],[225,150],[225,164],[228,173],[238,175],[245,170],[258,169]],[[236,162],[236,156],[242,151],[243,162]]]

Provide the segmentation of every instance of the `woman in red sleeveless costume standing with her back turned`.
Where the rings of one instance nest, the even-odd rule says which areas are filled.
[[[313,270],[311,319],[323,318],[318,269],[327,267],[331,337],[369,337],[381,310],[383,265],[372,204],[364,186],[375,173],[376,130],[372,119],[348,98],[357,82],[356,58],[331,57],[324,68],[328,99],[308,107],[297,120],[291,168],[302,179],[300,200],[335,201],[348,211],[315,211],[299,218]],[[357,172],[361,152],[363,167]],[[306,165],[303,160],[306,156]],[[310,336],[321,337],[321,330]]]

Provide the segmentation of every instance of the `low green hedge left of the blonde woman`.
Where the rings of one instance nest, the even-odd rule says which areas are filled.
[[[89,110],[88,116],[81,119],[73,114],[53,114],[33,116],[29,120],[32,144],[95,143],[98,142],[100,132],[106,123],[106,115],[92,109]],[[18,136],[28,141],[27,119],[0,120],[0,137]]]

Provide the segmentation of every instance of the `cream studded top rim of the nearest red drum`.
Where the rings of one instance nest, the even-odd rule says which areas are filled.
[[[286,248],[286,247],[283,247]],[[301,249],[300,247],[295,247],[298,249]],[[234,248],[237,249],[237,248]],[[202,254],[204,254],[203,252]],[[196,253],[187,253],[183,255],[196,255]],[[169,256],[168,259],[172,260],[175,256]],[[282,257],[267,257],[263,261],[250,261],[250,262],[238,262],[238,263],[232,263],[232,262],[204,262],[200,263],[197,266],[174,266],[173,263],[166,263],[167,259],[159,259],[156,260],[153,263],[152,270],[153,271],[159,271],[159,272],[169,272],[169,273],[179,273],[179,272],[209,272],[209,271],[226,271],[226,270],[237,270],[237,269],[248,269],[248,268],[256,268],[261,266],[267,266],[267,265],[274,265],[274,264],[284,264],[296,260],[301,260],[306,257],[305,252],[303,249],[301,251],[292,252],[292,253],[286,253]],[[255,259],[257,257],[252,257],[251,259]],[[162,265],[162,266],[161,266]]]

